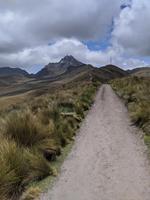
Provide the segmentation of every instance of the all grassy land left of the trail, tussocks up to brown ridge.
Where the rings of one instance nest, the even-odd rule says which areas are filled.
[[[79,65],[1,85],[0,199],[17,200],[28,185],[55,176],[54,162],[74,140],[97,88],[125,75],[115,66]]]

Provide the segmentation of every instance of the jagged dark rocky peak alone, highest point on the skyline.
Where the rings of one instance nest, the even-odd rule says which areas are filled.
[[[36,74],[36,77],[55,77],[65,73],[68,68],[80,67],[83,63],[76,60],[73,56],[65,56],[58,63],[49,63],[41,71]]]

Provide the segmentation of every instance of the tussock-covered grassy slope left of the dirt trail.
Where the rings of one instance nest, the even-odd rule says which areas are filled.
[[[56,175],[52,163],[74,139],[99,84],[80,80],[42,95],[37,90],[0,112],[1,200],[16,200],[29,184]]]

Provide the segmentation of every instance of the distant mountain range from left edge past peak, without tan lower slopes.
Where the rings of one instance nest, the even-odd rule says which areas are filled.
[[[29,75],[25,70],[20,68],[2,67],[0,68],[0,81],[17,82],[24,78],[50,79],[51,81],[73,78],[82,74],[93,74],[99,79],[109,80],[116,77],[126,76],[128,73],[117,66],[107,65],[101,68],[84,64],[73,56],[65,56],[57,63],[49,63],[35,75]],[[11,77],[11,80],[10,78]]]

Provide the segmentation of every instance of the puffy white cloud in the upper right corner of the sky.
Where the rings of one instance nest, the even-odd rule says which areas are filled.
[[[112,37],[127,55],[150,56],[150,1],[132,0],[116,18]]]

